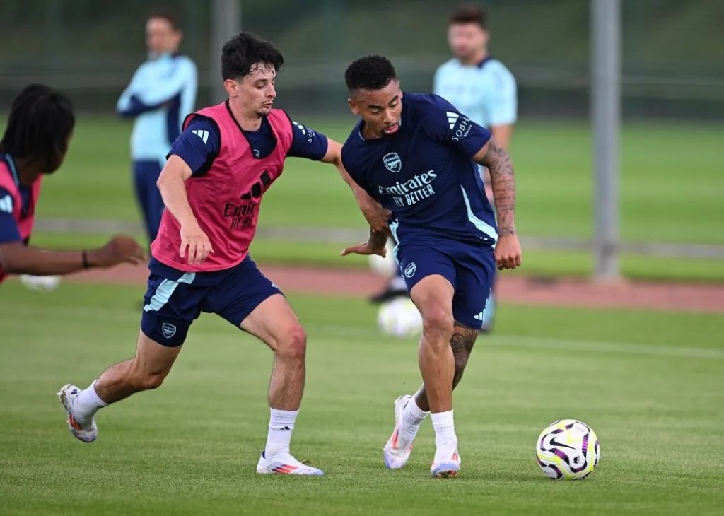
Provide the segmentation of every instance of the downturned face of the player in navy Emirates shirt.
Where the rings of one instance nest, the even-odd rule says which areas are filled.
[[[403,112],[400,81],[391,80],[380,90],[358,90],[348,99],[350,109],[364,120],[365,138],[382,138],[400,130]]]

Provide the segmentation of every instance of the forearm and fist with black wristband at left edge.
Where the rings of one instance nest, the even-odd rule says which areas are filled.
[[[118,263],[141,263],[146,259],[143,248],[131,237],[111,238],[102,248],[56,251],[34,248],[22,242],[0,245],[0,265],[9,274],[49,276],[68,274],[90,267],[110,267]]]

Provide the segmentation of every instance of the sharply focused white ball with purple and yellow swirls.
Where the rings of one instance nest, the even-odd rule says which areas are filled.
[[[562,419],[542,431],[536,442],[536,457],[543,473],[553,480],[578,480],[596,468],[601,447],[586,423]]]

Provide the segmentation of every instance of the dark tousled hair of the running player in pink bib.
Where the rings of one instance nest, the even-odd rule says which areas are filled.
[[[274,72],[284,64],[284,57],[277,47],[250,33],[238,33],[222,48],[222,78],[238,79],[251,72],[254,64],[274,67]]]

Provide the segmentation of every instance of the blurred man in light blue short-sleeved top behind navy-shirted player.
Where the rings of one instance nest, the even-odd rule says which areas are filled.
[[[447,43],[453,58],[438,67],[434,75],[433,93],[445,98],[458,111],[476,124],[486,127],[497,145],[508,150],[513,124],[517,118],[518,96],[515,77],[488,51],[490,34],[487,13],[476,4],[460,4],[450,16]],[[484,184],[492,202],[492,189],[487,169]],[[400,268],[387,287],[372,300],[382,302],[398,295],[407,295]],[[482,331],[492,327],[494,296],[485,307]]]

